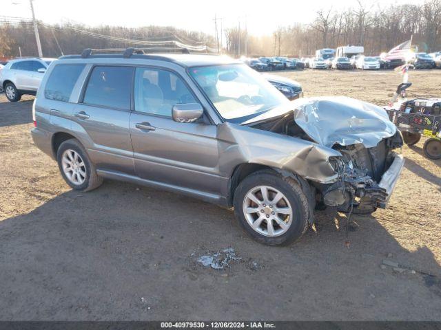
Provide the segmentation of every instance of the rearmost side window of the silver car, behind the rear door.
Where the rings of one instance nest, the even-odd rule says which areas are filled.
[[[83,72],[84,64],[59,64],[50,73],[44,96],[50,100],[69,102],[76,80]]]

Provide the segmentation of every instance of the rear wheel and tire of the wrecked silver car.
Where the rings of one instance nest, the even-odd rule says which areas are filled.
[[[85,148],[76,139],[66,140],[59,146],[57,162],[61,176],[75,190],[90,191],[103,183]]]

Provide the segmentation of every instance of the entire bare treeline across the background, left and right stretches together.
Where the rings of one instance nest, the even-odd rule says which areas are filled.
[[[271,19],[271,18],[269,18]],[[276,19],[276,18],[274,18]],[[223,31],[225,45],[221,52],[232,56],[311,56],[315,50],[341,45],[363,45],[366,54],[380,54],[409,40],[420,52],[441,50],[441,0],[427,0],[421,5],[390,5],[371,8],[358,2],[356,8],[342,12],[319,10],[310,24],[280,27],[267,36],[252,36],[245,30]],[[67,23],[48,25],[39,22],[43,55],[57,57],[79,54],[85,48],[172,47],[188,45],[214,51],[214,36],[174,27],[148,26],[90,28]],[[36,56],[32,21],[0,20],[0,56]]]

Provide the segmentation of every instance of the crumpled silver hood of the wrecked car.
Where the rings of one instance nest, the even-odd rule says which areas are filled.
[[[294,120],[315,142],[331,148],[334,144],[376,146],[396,133],[396,126],[381,107],[342,96],[300,98],[291,102]]]

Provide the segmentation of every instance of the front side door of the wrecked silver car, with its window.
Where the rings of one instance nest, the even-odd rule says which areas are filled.
[[[130,133],[136,175],[216,194],[220,189],[216,126],[172,120],[177,103],[198,102],[183,80],[162,69],[137,68]]]

